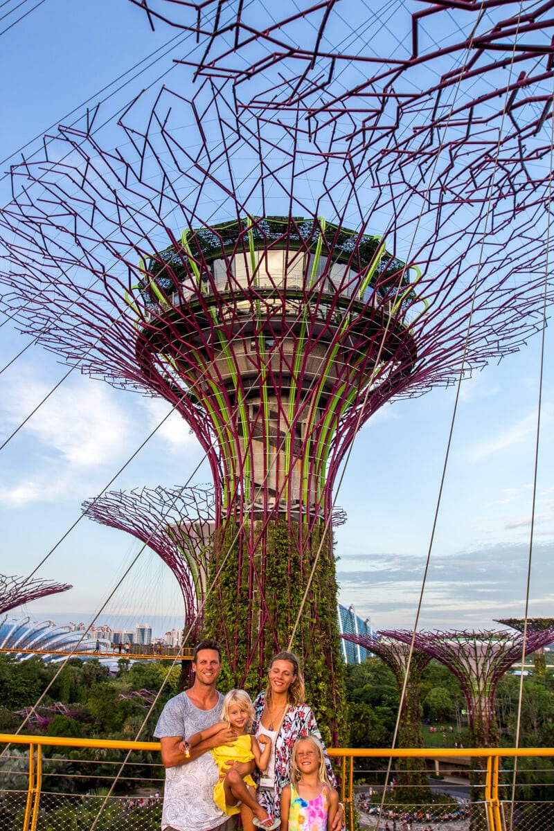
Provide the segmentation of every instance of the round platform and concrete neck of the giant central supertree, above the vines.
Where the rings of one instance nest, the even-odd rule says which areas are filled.
[[[355,431],[414,369],[405,264],[380,238],[266,217],[185,229],[145,269],[137,361],[165,397],[202,412],[190,423],[216,514],[325,520]]]

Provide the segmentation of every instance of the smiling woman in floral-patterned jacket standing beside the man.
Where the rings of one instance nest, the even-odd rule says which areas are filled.
[[[272,659],[267,681],[266,691],[254,701],[255,735],[268,735],[272,739],[272,755],[267,770],[257,775],[257,800],[267,814],[278,819],[281,815],[281,792],[290,782],[289,763],[295,741],[304,735],[316,735],[321,744],[323,742],[316,717],[304,703],[304,679],[297,656],[293,652],[279,652]],[[326,753],[325,758],[329,779],[336,786],[335,774]],[[343,813],[341,805],[333,831],[340,831]]]

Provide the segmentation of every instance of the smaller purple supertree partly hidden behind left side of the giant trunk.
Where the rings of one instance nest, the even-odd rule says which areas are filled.
[[[171,569],[184,600],[184,630],[198,636],[214,528],[213,488],[110,491],[88,500],[90,519],[133,534]]]

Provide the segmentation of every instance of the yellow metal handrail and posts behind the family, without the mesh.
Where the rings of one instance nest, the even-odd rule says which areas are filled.
[[[102,750],[146,750],[159,751],[159,742],[119,741],[103,739],[78,739],[54,736],[0,734],[0,745],[27,745],[29,749],[27,802],[22,829],[13,831],[36,831],[39,805],[42,794],[42,747],[89,748]],[[554,748],[498,748],[498,749],[406,749],[384,748],[360,750],[355,748],[330,749],[331,759],[336,760],[341,770],[341,801],[345,804],[346,820],[354,828],[354,774],[355,760],[360,759],[403,759],[424,758],[427,760],[455,760],[460,763],[482,759],[485,769],[483,802],[487,831],[505,831],[499,796],[500,760],[507,757],[552,757]],[[2,757],[0,757],[1,760]],[[5,793],[5,791],[3,792]],[[2,794],[2,790],[0,790]],[[554,800],[553,800],[554,801]],[[381,827],[381,826],[380,826]],[[384,824],[383,824],[384,827]]]

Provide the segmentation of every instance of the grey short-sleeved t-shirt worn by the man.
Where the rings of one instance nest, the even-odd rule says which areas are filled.
[[[170,698],[159,716],[154,735],[158,739],[181,735],[189,739],[199,730],[211,727],[221,718],[223,696],[212,710],[199,710],[186,693]],[[223,824],[227,816],[213,801],[218,782],[218,767],[211,753],[204,753],[187,765],[165,769],[162,829],[178,831],[209,831]]]

